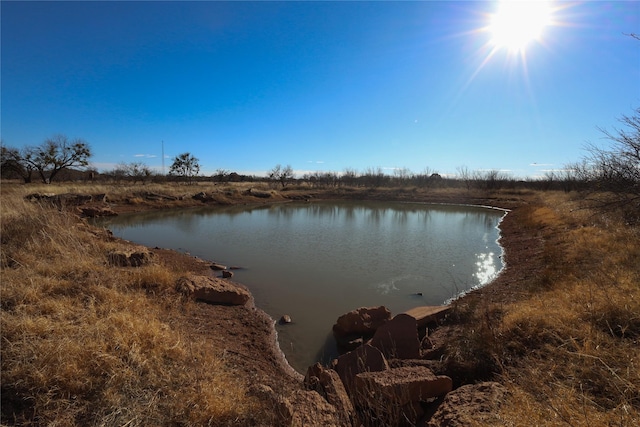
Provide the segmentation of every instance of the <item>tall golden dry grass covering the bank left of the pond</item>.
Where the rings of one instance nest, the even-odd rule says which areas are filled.
[[[163,292],[176,272],[111,267],[117,243],[2,190],[3,424],[249,422],[257,402],[218,350],[163,321],[182,304]]]

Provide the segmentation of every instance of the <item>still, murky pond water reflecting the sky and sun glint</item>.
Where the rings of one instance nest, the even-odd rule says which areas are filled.
[[[124,239],[228,266],[274,319],[289,363],[304,373],[336,356],[343,313],[392,315],[439,305],[502,268],[501,210],[389,202],[313,202],[147,212],[100,222]]]

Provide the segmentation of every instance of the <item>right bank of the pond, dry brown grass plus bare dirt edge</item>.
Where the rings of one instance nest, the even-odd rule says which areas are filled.
[[[509,387],[504,425],[640,420],[640,230],[580,206],[545,193],[516,208],[501,227],[507,270],[456,303],[448,363]],[[526,260],[511,259],[512,232],[529,236]]]

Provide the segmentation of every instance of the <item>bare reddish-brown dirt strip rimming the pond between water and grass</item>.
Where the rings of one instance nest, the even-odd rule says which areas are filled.
[[[517,300],[526,291],[527,278],[541,268],[540,241],[533,230],[519,227],[519,216],[524,214],[523,206],[535,204],[534,193],[502,193],[499,195],[478,195],[471,193],[415,193],[400,191],[356,191],[356,192],[271,192],[269,198],[255,197],[249,193],[235,195],[233,198],[211,198],[200,201],[193,198],[171,200],[152,197],[130,203],[126,198],[111,200],[107,204],[115,213],[143,211],[219,204],[265,204],[285,203],[291,200],[360,199],[388,200],[424,203],[455,203],[481,206],[493,206],[510,210],[503,219],[500,244],[504,248],[506,268],[500,276],[486,287],[473,291],[456,302],[461,307],[479,307],[478,301],[488,303],[509,303]],[[178,266],[190,271],[210,275],[209,263],[166,249],[153,249],[158,262],[167,266]],[[215,261],[215,260],[209,260]],[[482,304],[485,306],[486,304]],[[356,307],[354,307],[356,308]],[[480,308],[478,308],[480,309]],[[284,359],[277,346],[274,320],[253,304],[247,306],[222,306],[209,304],[189,305],[180,315],[167,322],[182,331],[191,340],[206,340],[215,348],[223,349],[225,359],[238,369],[249,384],[257,387],[267,386],[273,390],[276,412],[283,409],[278,399],[284,398],[287,411],[295,414],[292,420],[298,425],[344,425],[340,414],[317,399],[315,392],[306,391],[302,375],[296,373]],[[446,337],[459,333],[455,316],[447,324],[441,325],[433,333],[433,341],[445,346]],[[459,387],[466,383],[491,378],[491,373],[477,372],[473,367],[441,366],[443,374],[454,379]],[[274,417],[281,416],[278,413]],[[272,422],[272,421],[270,421]],[[269,424],[269,422],[266,422]]]

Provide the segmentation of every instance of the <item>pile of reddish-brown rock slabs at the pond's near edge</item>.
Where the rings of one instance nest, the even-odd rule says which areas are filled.
[[[425,408],[453,389],[450,377],[436,375],[421,359],[418,324],[426,322],[418,317],[402,313],[392,318],[382,306],[340,316],[333,334],[346,352],[331,367],[309,367],[306,387],[334,405],[345,425],[416,425]]]

